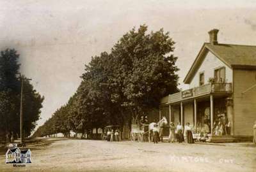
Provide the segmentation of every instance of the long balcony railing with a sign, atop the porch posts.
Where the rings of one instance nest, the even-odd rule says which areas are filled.
[[[169,95],[161,99],[161,103],[175,103],[183,99],[204,96],[207,94],[230,94],[232,93],[232,83],[208,83],[193,89],[184,90]]]

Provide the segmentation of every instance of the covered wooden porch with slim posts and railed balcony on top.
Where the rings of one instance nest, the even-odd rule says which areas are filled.
[[[159,118],[165,116],[175,126],[178,122],[183,126],[189,123],[194,137],[205,137],[205,141],[234,141],[231,95],[231,83],[207,84],[170,94],[162,99]]]

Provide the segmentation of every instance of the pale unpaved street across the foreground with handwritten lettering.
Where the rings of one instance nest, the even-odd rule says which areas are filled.
[[[205,145],[58,140],[31,147],[32,164],[0,171],[256,171],[252,143]]]

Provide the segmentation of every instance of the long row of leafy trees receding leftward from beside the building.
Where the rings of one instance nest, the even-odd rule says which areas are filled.
[[[163,29],[148,32],[141,25],[137,31],[127,32],[109,54],[92,57],[74,96],[35,136],[68,134],[70,130],[90,133],[104,125],[131,122],[158,108],[161,97],[177,92],[174,44]]]

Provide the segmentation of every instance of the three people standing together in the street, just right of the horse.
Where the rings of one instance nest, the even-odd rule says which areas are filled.
[[[184,141],[186,141],[186,143],[194,143],[192,129],[189,122],[187,122],[185,127],[183,127],[180,122],[178,122],[176,127],[173,122],[170,122],[169,143],[173,143],[175,141],[179,143]]]

